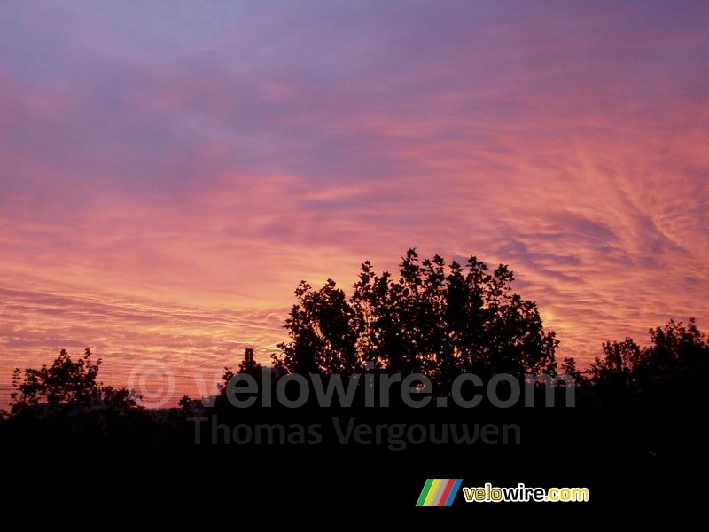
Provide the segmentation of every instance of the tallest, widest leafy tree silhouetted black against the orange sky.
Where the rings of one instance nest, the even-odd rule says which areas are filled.
[[[285,323],[290,340],[274,356],[287,372],[425,372],[446,387],[460,372],[491,375],[556,370],[554,332],[534,301],[512,293],[514,275],[471,257],[419,262],[409,249],[399,278],[364,262],[352,295],[328,279],[319,290],[301,281]]]

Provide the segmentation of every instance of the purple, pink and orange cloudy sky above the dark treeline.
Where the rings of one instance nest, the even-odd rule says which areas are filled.
[[[580,365],[670,318],[706,330],[707,22],[689,1],[4,0],[0,395],[86,347],[105,382],[162,364],[193,394],[277,351],[300,279],[348,288],[413,246],[509,264]]]

